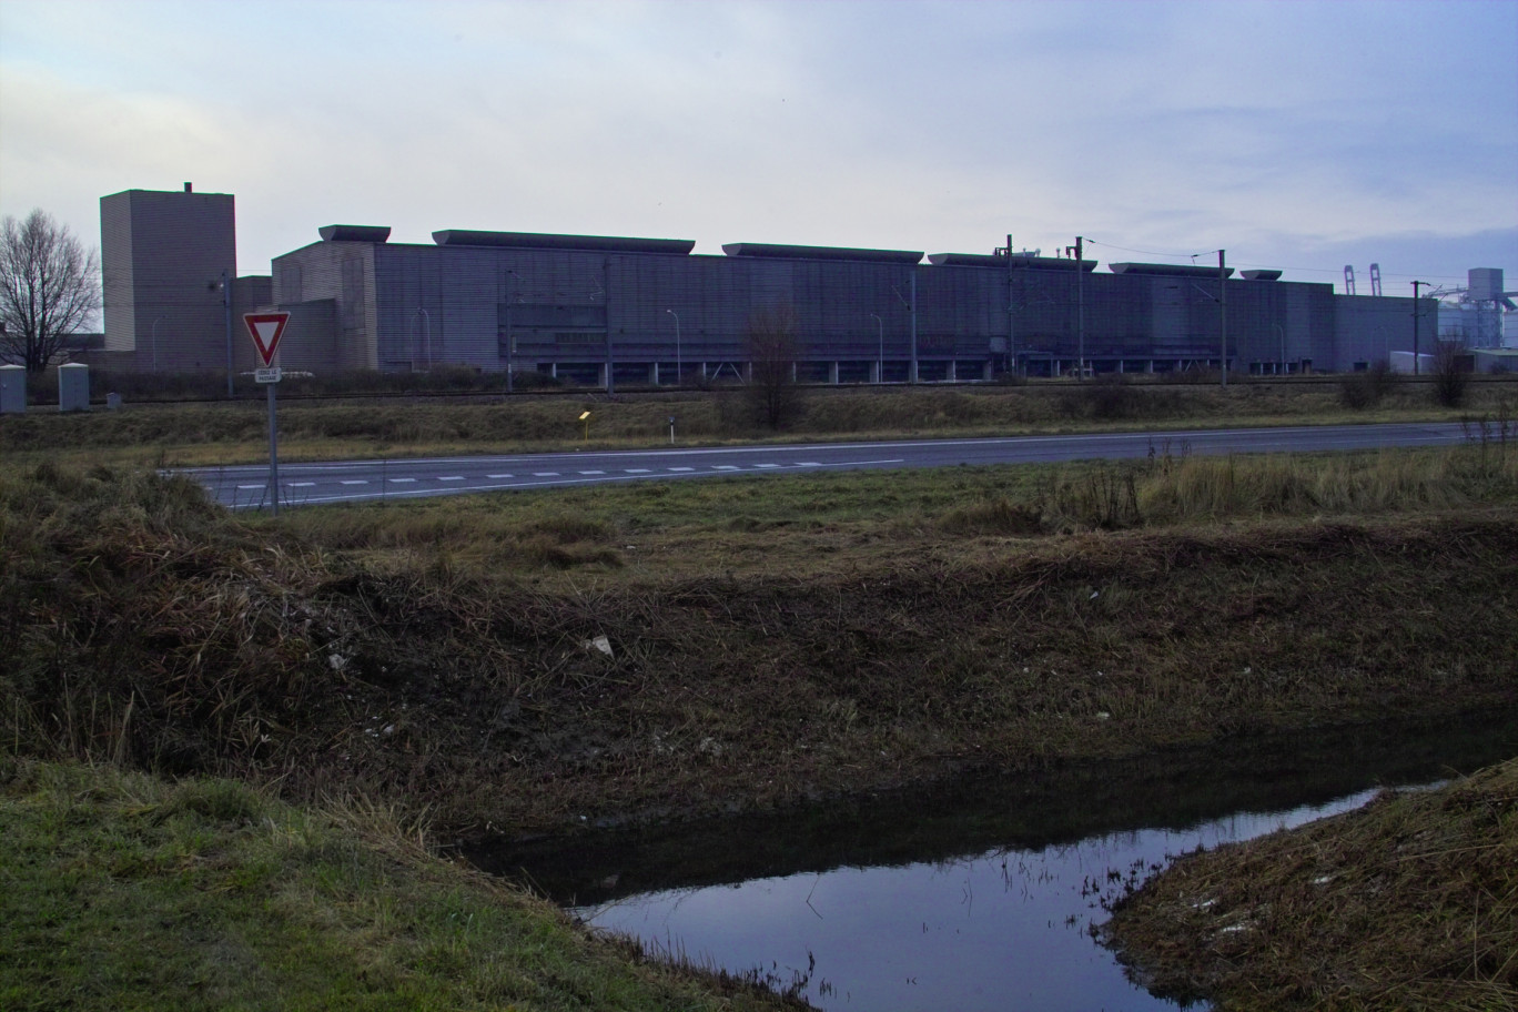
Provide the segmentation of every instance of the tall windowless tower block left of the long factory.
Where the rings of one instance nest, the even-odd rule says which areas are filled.
[[[138,372],[226,369],[222,278],[237,278],[229,193],[126,190],[100,197],[105,347]]]

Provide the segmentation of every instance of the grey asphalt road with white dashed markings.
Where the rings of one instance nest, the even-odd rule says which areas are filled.
[[[1151,451],[1179,455],[1442,446],[1463,438],[1463,429],[1454,423],[1398,423],[281,463],[279,505],[419,499],[715,475],[1120,460],[1146,457]],[[194,467],[179,473],[190,475],[217,502],[234,510],[270,505],[267,464]]]

